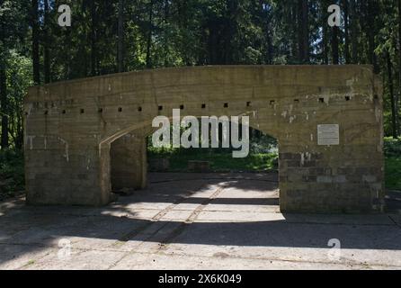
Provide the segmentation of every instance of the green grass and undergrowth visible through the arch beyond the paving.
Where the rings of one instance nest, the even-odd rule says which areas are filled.
[[[221,138],[222,135],[218,135],[218,148],[156,148],[148,136],[148,172],[278,172],[279,143],[269,134],[250,128],[246,157],[233,157],[236,149],[222,148]]]

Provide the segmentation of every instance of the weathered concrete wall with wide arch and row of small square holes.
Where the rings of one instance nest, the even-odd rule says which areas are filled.
[[[279,140],[281,211],[382,211],[381,91],[369,66],[181,67],[32,87],[27,200],[102,205],[112,178],[143,186],[141,139],[156,115],[181,108],[182,116],[249,115]],[[318,145],[321,124],[339,125],[339,145]],[[127,134],[135,148],[117,143]],[[113,169],[112,157],[127,161]]]

